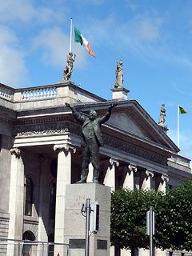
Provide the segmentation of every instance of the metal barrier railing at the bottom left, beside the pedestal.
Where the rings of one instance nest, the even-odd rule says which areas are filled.
[[[0,256],[70,256],[70,245],[0,238]]]

